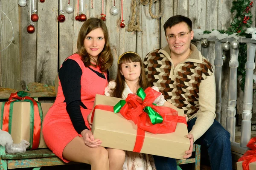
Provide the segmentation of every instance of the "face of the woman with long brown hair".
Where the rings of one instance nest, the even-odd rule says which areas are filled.
[[[84,48],[90,57],[98,59],[99,53],[102,52],[105,45],[105,37],[102,28],[96,28],[90,31],[84,39]]]

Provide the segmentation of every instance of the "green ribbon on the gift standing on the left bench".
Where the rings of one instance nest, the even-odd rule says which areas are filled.
[[[27,93],[25,91],[18,91],[17,92],[17,96],[23,98],[23,97],[26,97],[26,96],[29,96],[30,93]],[[9,98],[9,101],[7,102],[10,102],[12,100],[12,97]],[[29,143],[30,143],[30,146],[29,146],[29,149],[32,148],[32,143],[33,143],[33,134],[34,134],[34,105],[33,105],[33,102],[30,100],[30,99],[24,99],[24,100],[20,100],[20,99],[16,99],[16,100],[12,100],[11,103],[10,103],[10,111],[9,111],[9,126],[8,126],[8,131],[10,134],[12,134],[12,113],[13,113],[13,104],[15,102],[30,102],[30,138],[29,138]],[[42,123],[43,123],[43,111],[42,111],[42,107],[41,107],[41,103],[40,102],[37,102],[35,101],[38,105],[38,111],[39,111],[39,115],[40,115],[40,119],[41,119],[41,128],[42,128]],[[0,129],[2,129],[3,127],[3,111],[4,111],[4,105],[5,105],[6,102],[3,102],[2,103],[2,106],[1,106],[1,122],[0,122]]]

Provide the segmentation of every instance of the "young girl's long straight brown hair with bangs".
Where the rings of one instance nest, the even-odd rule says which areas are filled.
[[[121,66],[122,64],[125,63],[129,63],[129,62],[140,62],[140,78],[139,78],[139,85],[141,88],[143,88],[143,90],[145,90],[147,88],[147,79],[145,76],[145,71],[144,71],[144,66],[143,66],[143,62],[142,59],[140,58],[139,54],[134,53],[134,52],[127,52],[125,54],[122,54],[119,57],[119,63],[117,66],[117,76],[116,76],[116,87],[113,89],[111,96],[113,97],[118,97],[118,98],[122,98],[122,92],[125,89],[125,77],[121,75],[120,70],[121,70]]]

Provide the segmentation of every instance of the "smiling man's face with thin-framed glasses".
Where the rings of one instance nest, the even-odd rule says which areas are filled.
[[[194,32],[189,31],[186,23],[178,23],[172,26],[172,28],[166,28],[166,40],[171,50],[171,55],[175,55],[176,57],[189,55],[190,41],[194,37]],[[180,37],[177,36],[178,34]]]

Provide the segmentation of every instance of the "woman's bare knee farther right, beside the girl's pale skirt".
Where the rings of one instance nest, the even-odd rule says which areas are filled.
[[[125,162],[125,151],[107,148],[110,170],[122,170]]]

